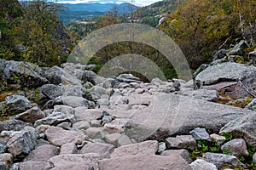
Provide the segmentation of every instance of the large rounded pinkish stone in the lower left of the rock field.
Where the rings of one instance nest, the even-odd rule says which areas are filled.
[[[84,135],[72,130],[64,130],[61,127],[49,127],[45,135],[51,144],[61,146],[67,143],[82,144]]]

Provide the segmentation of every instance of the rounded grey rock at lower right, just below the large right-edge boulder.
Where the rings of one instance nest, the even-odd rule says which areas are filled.
[[[249,153],[247,151],[247,144],[244,141],[244,139],[232,139],[226,144],[221,146],[221,150],[229,150],[230,155],[241,157],[241,156],[249,156]]]

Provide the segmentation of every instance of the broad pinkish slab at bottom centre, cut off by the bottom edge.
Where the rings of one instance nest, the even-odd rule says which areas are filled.
[[[154,155],[136,155],[113,157],[99,161],[101,170],[190,170],[189,164],[181,156],[154,156]]]

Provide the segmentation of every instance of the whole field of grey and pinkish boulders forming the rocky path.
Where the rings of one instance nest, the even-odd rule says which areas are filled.
[[[256,67],[211,65],[195,78],[198,89],[177,79],[103,78],[90,71],[94,65],[0,65],[9,85],[36,89],[0,103],[10,115],[0,122],[0,169],[250,169],[241,157],[256,158],[247,148],[256,146],[255,99],[248,109],[217,103],[223,89],[241,88],[237,80],[253,87]],[[239,92],[240,100],[248,95]],[[218,143],[218,153],[212,147],[196,155],[206,143]]]

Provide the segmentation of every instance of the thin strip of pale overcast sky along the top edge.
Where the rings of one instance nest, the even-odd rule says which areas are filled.
[[[131,0],[58,0],[59,3],[88,3],[92,1],[99,3],[131,3]],[[146,6],[158,1],[160,0],[135,0],[136,4],[140,6]]]

